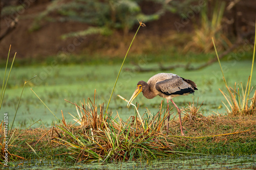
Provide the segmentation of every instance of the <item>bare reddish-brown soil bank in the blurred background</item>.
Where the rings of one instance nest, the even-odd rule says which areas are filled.
[[[6,3],[4,5],[10,5],[10,3],[7,4],[8,1],[3,0],[3,2]],[[22,1],[14,1],[12,5],[15,3],[17,5],[20,2]],[[109,37],[93,35],[62,40],[60,38],[61,35],[85,30],[89,25],[75,21],[44,21],[40,29],[31,32],[30,28],[34,16],[44,11],[50,5],[51,1],[27,0],[23,2],[25,4],[26,2],[29,2],[26,4],[26,9],[24,11],[1,17],[0,35],[3,35],[8,29],[7,23],[10,23],[10,19],[17,17],[18,22],[15,29],[0,41],[0,59],[5,59],[7,57],[10,44],[12,45],[11,56],[17,52],[18,58],[45,59],[46,57],[56,56],[60,53],[84,53],[84,55],[86,55],[87,53],[89,54],[97,51],[102,52],[104,55],[123,56],[138,28],[138,26],[134,27],[125,37],[121,31],[115,31],[113,35]],[[225,2],[228,6],[233,1],[230,0]],[[141,9],[145,14],[151,13],[159,8],[151,1],[143,1],[141,4],[143,4]],[[223,27],[224,31],[229,37],[235,37],[234,39],[241,34],[254,31],[255,14],[256,1],[240,1],[235,4],[231,10],[225,11],[223,22],[226,27]],[[195,19],[191,19],[191,21],[183,25],[184,27],[180,27],[179,31],[177,31],[174,24],[177,22],[182,23],[182,18],[179,14],[165,13],[159,20],[145,23],[146,27],[142,28],[137,35],[137,42],[135,42],[135,47],[132,52],[136,53],[139,51],[136,46],[139,46],[138,44],[145,38],[150,41],[156,41],[156,39],[158,39],[159,42],[154,45],[162,45],[161,38],[165,38],[166,36],[182,32],[193,33],[194,26],[199,23],[199,15],[196,14],[195,16]]]

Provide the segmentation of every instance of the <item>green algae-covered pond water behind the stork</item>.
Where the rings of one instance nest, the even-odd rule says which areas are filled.
[[[157,66],[157,63],[147,64],[146,67]],[[125,65],[124,67],[133,68],[133,65]],[[246,86],[251,70],[251,61],[222,62],[224,74],[229,86],[234,87],[234,83],[243,82]],[[94,99],[94,90],[97,90],[96,103],[104,103],[104,109],[108,104],[111,91],[113,89],[120,65],[58,65],[49,69],[47,66],[27,66],[14,68],[7,85],[2,113],[8,113],[9,122],[11,123],[17,108],[18,100],[24,82],[37,75],[36,78],[26,84],[20,101],[19,109],[15,118],[14,127],[27,128],[33,123],[39,121],[33,127],[52,126],[56,123],[53,114],[40,102],[33,91],[44,101],[51,111],[59,118],[62,118],[61,110],[67,122],[73,122],[69,113],[77,115],[74,105],[64,101],[64,99],[81,105],[83,100],[87,103],[88,98]],[[0,75],[4,75],[5,69],[0,69]],[[47,70],[47,71],[46,71]],[[118,112],[119,116],[125,121],[131,115],[134,115],[133,107],[127,108],[126,102],[121,100],[117,94],[125,99],[130,99],[137,82],[140,80],[147,81],[150,77],[159,71],[149,72],[131,72],[122,70],[118,79],[112,100],[108,111],[113,111],[113,116]],[[193,80],[197,83],[198,89],[195,95],[179,96],[174,98],[175,103],[180,107],[187,107],[188,103],[200,105],[205,116],[210,114],[225,114],[226,107],[222,103],[227,102],[220,92],[219,88],[226,92],[225,84],[222,80],[220,66],[215,63],[201,70],[186,71],[184,68],[177,68],[166,72],[173,72],[185,79]],[[256,72],[256,69],[253,71]],[[255,74],[254,74],[255,75]],[[256,79],[252,75],[252,86],[256,84]],[[238,87],[238,86],[237,86]],[[161,99],[157,96],[148,100],[140,94],[135,102],[139,103],[139,112],[144,114],[147,109],[152,114],[158,112]],[[164,108],[166,109],[166,100]],[[176,115],[176,110],[173,109]],[[35,116],[36,115],[36,116]]]

